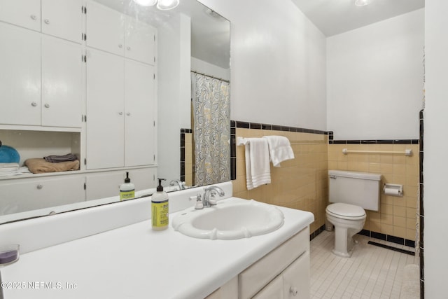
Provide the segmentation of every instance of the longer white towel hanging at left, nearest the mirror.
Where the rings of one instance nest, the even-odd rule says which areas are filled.
[[[269,147],[262,138],[244,139],[246,146],[246,185],[247,190],[271,183],[269,168]]]

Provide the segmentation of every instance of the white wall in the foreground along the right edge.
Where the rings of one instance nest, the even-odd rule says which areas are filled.
[[[447,298],[448,1],[426,1],[424,132],[425,298]]]

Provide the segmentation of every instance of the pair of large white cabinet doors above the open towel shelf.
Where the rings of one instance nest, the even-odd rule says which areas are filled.
[[[80,127],[80,45],[3,22],[0,39],[1,123]]]

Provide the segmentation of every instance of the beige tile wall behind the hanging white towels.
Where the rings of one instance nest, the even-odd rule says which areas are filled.
[[[293,209],[311,211],[315,221],[310,232],[325,224],[328,202],[328,135],[237,128],[237,137],[281,135],[292,143],[295,159],[272,167],[271,183],[253,190],[246,188],[244,146],[237,146],[237,179],[233,195]]]

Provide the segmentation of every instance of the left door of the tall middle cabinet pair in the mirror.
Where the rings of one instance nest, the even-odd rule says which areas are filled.
[[[87,169],[124,165],[124,59],[87,50]]]

